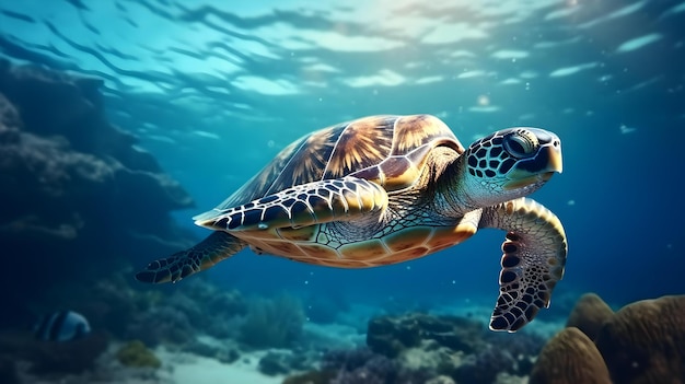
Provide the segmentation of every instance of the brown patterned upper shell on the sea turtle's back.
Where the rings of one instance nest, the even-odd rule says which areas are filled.
[[[247,203],[295,185],[353,175],[400,190],[416,182],[426,154],[464,147],[430,115],[370,116],[311,132],[285,148],[216,209]]]

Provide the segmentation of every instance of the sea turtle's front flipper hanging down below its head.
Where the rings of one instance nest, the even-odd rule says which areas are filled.
[[[549,306],[552,290],[564,276],[564,226],[552,211],[527,198],[486,208],[479,226],[508,232],[490,329],[516,331]]]

